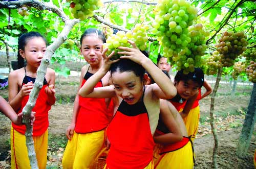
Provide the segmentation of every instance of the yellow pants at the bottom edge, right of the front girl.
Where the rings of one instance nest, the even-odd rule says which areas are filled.
[[[155,169],[192,169],[193,166],[193,150],[190,141],[181,149],[160,155],[158,162],[155,163]]]

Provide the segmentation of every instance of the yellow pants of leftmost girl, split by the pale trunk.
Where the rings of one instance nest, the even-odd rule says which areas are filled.
[[[39,169],[45,169],[47,163],[48,130],[40,135],[33,136],[34,147]],[[28,169],[30,167],[26,137],[11,127],[11,168]]]

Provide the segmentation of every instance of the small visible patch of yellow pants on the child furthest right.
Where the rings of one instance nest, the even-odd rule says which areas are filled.
[[[200,108],[197,106],[194,109],[191,109],[188,115],[183,118],[188,136],[197,134],[198,124],[200,118]],[[194,141],[195,138],[191,137],[191,141]]]

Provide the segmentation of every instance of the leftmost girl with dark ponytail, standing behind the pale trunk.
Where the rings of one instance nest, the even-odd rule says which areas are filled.
[[[36,71],[46,52],[46,39],[38,32],[22,34],[18,38],[18,69],[9,74],[9,103],[17,113],[22,112],[28,102],[35,82]],[[24,59],[27,65],[24,66]],[[35,107],[33,140],[39,168],[46,168],[48,148],[48,111],[55,103],[55,72],[47,68]],[[49,87],[48,87],[49,86]],[[11,127],[11,168],[30,168],[25,141],[25,125]]]

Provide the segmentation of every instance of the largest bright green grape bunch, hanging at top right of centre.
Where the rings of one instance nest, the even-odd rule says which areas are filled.
[[[158,1],[152,33],[156,34],[159,44],[166,49],[163,56],[167,57],[172,63],[178,63],[177,69],[183,68],[186,72],[194,71],[195,56],[201,55],[202,51],[206,49],[203,46],[199,47],[198,51],[200,52],[197,51],[196,47],[194,51],[191,50],[194,45],[205,43],[204,38],[206,35],[204,37],[195,37],[192,41],[187,29],[196,18],[197,9],[192,7],[186,0]],[[202,33],[200,32],[199,34]],[[199,42],[199,39],[201,42]],[[189,54],[193,56],[188,56]],[[192,60],[189,59],[189,62],[187,62],[187,58],[190,57]]]

